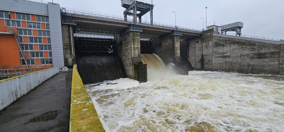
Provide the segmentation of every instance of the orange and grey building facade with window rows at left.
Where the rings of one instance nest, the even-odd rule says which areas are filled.
[[[59,4],[1,0],[0,5],[2,69],[64,66]]]

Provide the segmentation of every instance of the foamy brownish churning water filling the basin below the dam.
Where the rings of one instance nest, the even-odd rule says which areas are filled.
[[[86,89],[106,131],[284,131],[280,75],[190,71]]]

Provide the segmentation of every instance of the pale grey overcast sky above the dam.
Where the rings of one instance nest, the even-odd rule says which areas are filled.
[[[51,1],[51,0],[50,0]],[[149,1],[150,0],[146,0]],[[123,16],[125,10],[120,0],[53,0],[61,7],[95,11]],[[283,0],[153,0],[153,21],[202,29],[205,27],[205,7],[207,26],[243,22],[243,35],[284,39]],[[145,20],[145,16],[142,17]],[[147,13],[147,20],[150,14]],[[232,33],[232,32],[231,32]]]

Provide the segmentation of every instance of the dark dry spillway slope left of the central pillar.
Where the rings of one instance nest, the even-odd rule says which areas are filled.
[[[84,84],[126,78],[118,56],[90,55],[77,57],[76,61]]]

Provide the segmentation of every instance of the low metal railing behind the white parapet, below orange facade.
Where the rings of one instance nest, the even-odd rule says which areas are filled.
[[[30,72],[47,69],[50,67],[40,67],[40,68],[24,68],[24,69],[1,69],[0,77],[13,77],[17,75],[23,75]]]

